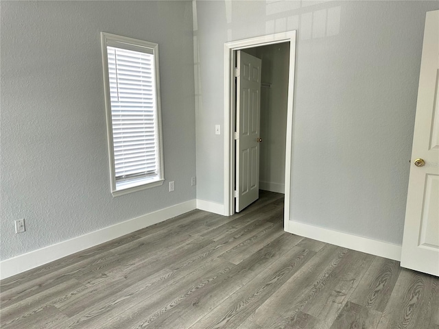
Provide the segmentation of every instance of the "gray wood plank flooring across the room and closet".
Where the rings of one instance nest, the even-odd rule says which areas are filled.
[[[283,231],[283,195],[169,219],[0,282],[1,328],[439,329],[439,278]]]

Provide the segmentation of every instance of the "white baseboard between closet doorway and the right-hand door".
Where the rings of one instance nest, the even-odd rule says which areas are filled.
[[[401,245],[393,243],[368,239],[364,236],[328,230],[298,221],[289,221],[285,231],[305,236],[305,238],[331,243],[331,245],[339,245],[340,247],[357,250],[358,252],[366,252],[375,256],[390,258],[393,260],[401,260]]]

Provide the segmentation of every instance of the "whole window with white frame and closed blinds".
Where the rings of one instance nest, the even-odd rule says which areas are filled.
[[[101,33],[112,194],[162,185],[158,45]]]

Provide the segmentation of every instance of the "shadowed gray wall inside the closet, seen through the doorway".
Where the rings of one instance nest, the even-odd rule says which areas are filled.
[[[244,49],[261,58],[261,156],[259,186],[262,190],[281,191],[285,183],[285,147],[287,134],[287,100],[289,42]]]

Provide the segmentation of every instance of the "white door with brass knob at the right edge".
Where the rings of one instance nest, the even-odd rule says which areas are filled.
[[[439,276],[439,10],[427,12],[401,266]]]

